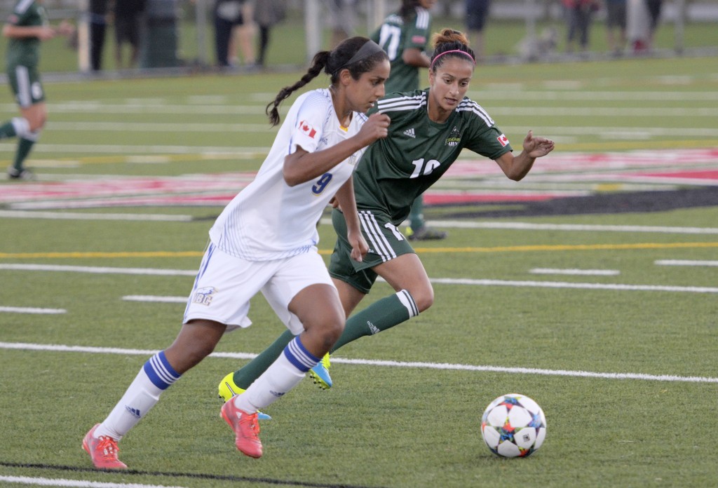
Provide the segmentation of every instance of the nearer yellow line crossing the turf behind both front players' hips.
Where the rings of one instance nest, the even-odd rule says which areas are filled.
[[[632,249],[676,249],[676,248],[718,248],[718,243],[635,243],[635,244],[556,244],[556,245],[509,245],[493,248],[416,248],[417,253],[527,253],[532,251],[557,250],[632,250]],[[329,255],[332,250],[320,250]],[[198,258],[201,251],[138,251],[138,252],[72,252],[72,253],[0,253],[0,259],[37,258]]]

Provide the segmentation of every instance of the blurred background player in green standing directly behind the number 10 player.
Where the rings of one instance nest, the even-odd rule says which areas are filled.
[[[419,88],[419,68],[429,67],[426,43],[431,32],[431,9],[437,0],[402,0],[401,8],[384,19],[371,36],[389,57],[391,75],[386,93],[408,92]],[[419,195],[411,205],[410,240],[444,239],[447,233],[428,227],[424,221],[424,197]]]

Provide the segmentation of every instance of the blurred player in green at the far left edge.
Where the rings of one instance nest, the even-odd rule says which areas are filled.
[[[13,165],[7,169],[11,179],[33,178],[32,172],[24,169],[23,163],[47,120],[45,91],[42,90],[37,70],[40,42],[52,39],[57,34],[69,36],[75,32],[74,27],[67,22],[62,22],[58,27],[50,26],[42,1],[16,1],[2,29],[4,37],[9,38],[5,59],[7,79],[21,115],[0,126],[0,139],[18,138]]]

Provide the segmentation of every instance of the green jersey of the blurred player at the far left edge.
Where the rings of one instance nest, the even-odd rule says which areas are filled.
[[[49,25],[45,7],[34,0],[18,0],[7,19],[8,24],[19,27]],[[6,66],[35,67],[39,63],[40,39],[37,37],[11,38],[7,44]]]

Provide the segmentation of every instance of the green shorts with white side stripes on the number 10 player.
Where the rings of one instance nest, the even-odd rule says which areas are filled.
[[[347,222],[339,210],[332,210],[332,225],[337,233],[337,243],[329,263],[332,278],[349,283],[364,294],[368,294],[377,274],[374,266],[391,261],[403,254],[414,254],[409,240],[391,223],[389,216],[372,210],[360,210],[361,230],[369,245],[361,263],[351,257],[352,247],[347,240]]]

